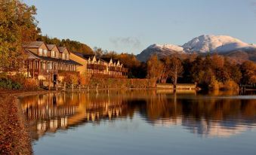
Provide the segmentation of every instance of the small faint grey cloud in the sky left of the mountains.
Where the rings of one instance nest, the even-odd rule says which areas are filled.
[[[140,40],[138,38],[132,37],[118,37],[118,38],[110,38],[109,41],[114,44],[115,47],[129,47],[132,49],[138,49],[141,47]]]

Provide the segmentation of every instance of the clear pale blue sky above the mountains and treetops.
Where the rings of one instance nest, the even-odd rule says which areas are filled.
[[[256,0],[23,0],[38,9],[43,35],[138,54],[199,35],[256,44]]]

